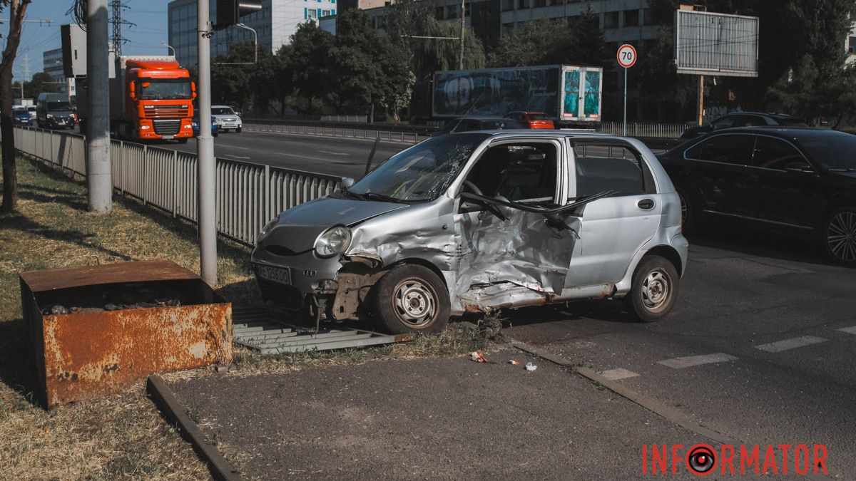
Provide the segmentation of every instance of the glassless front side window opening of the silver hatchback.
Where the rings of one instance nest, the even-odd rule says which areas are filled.
[[[484,196],[552,204],[556,197],[556,145],[546,142],[490,147],[467,175]]]

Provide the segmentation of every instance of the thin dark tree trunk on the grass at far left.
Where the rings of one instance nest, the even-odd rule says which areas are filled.
[[[15,131],[12,123],[12,64],[21,42],[21,25],[27,14],[30,0],[4,0],[0,3],[9,8],[9,34],[6,48],[0,60],[0,137],[3,138],[3,205],[0,212],[15,210],[18,194],[18,179],[15,169]]]

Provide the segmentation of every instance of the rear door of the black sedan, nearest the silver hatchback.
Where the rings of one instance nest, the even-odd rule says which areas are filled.
[[[752,134],[715,134],[684,151],[690,195],[700,200],[696,211],[716,217],[750,215],[753,187],[746,169],[754,145]]]

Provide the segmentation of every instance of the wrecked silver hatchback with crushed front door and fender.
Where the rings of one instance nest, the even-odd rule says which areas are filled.
[[[639,140],[438,135],[342,185],[261,230],[252,261],[266,300],[393,333],[603,298],[650,322],[674,306],[687,264],[680,199]]]

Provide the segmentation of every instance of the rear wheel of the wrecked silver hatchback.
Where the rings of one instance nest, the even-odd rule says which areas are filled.
[[[675,306],[680,279],[669,259],[648,255],[636,266],[630,293],[624,298],[627,311],[643,323],[665,318]]]

